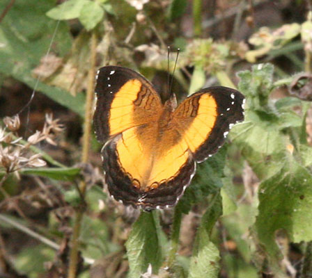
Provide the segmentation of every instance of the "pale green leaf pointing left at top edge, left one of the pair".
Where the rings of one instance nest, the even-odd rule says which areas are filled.
[[[56,20],[67,20],[79,17],[84,4],[88,0],[68,0],[61,5],[52,8],[47,12],[47,16]]]

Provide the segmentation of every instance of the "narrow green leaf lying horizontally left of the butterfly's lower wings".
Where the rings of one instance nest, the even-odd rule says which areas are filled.
[[[47,177],[61,181],[72,181],[80,174],[80,168],[24,168],[21,174],[33,174],[40,177]]]

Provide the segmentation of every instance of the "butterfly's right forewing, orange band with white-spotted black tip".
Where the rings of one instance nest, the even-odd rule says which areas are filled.
[[[187,97],[173,113],[196,162],[224,144],[232,124],[244,120],[244,96],[226,87],[202,89]]]

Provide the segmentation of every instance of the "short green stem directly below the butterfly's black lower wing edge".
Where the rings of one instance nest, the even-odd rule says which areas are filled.
[[[173,263],[176,261],[176,254],[178,252],[180,238],[181,220],[182,220],[182,211],[178,206],[176,206],[172,224],[171,247],[166,262],[166,267],[168,268],[171,268]]]

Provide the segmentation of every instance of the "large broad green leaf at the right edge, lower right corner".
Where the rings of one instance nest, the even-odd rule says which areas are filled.
[[[281,172],[260,183],[255,229],[273,265],[281,254],[276,231],[286,231],[295,243],[312,240],[312,176],[290,159]]]

